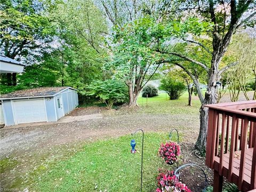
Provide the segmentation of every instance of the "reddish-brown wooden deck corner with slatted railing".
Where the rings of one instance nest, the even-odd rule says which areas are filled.
[[[239,190],[256,188],[256,101],[206,105],[206,165],[214,169],[214,192],[223,176]]]

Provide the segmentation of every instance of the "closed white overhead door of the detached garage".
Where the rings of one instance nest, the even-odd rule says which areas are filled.
[[[13,101],[15,124],[46,122],[44,99]]]

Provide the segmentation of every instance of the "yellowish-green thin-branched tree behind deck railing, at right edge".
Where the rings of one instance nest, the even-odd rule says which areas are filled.
[[[239,33],[234,37],[227,51],[229,56],[227,59],[238,61],[238,64],[227,70],[223,76],[227,82],[231,101],[238,101],[240,92],[243,92],[245,98],[250,100],[247,94],[247,84],[253,81],[253,71],[256,66],[256,39],[245,33]]]

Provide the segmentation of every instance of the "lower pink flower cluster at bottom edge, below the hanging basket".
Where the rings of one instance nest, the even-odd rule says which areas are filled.
[[[178,181],[173,171],[159,170],[157,176],[156,192],[191,192],[191,190],[183,183]]]

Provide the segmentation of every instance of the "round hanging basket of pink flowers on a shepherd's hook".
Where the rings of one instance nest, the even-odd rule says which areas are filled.
[[[178,161],[180,155],[180,146],[175,142],[162,143],[158,150],[159,156],[161,156],[165,163],[173,164]]]

